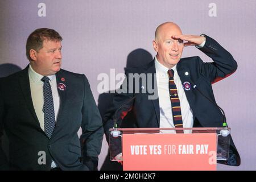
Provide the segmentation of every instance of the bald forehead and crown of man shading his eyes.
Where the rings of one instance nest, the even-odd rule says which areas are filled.
[[[173,22],[166,22],[160,24],[156,30],[155,30],[155,40],[159,40],[163,36],[166,36],[167,34],[182,34],[180,27],[177,26],[176,23]]]

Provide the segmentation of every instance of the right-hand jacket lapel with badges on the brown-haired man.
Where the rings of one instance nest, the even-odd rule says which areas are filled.
[[[60,96],[60,109],[59,109],[59,114],[57,115],[57,122],[59,123],[59,119],[61,114],[63,113],[63,108],[65,105],[66,101],[66,96],[67,96],[67,80],[65,76],[63,75],[63,72],[60,70],[59,72],[56,73],[56,81],[57,81],[57,90]],[[63,85],[64,84],[64,85]],[[64,86],[64,89],[61,88],[61,85]]]

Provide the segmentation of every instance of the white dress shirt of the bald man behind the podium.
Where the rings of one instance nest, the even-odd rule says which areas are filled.
[[[160,128],[175,128],[172,118],[172,106],[169,93],[169,77],[168,68],[160,64],[155,56],[156,68],[156,83],[158,86],[158,98],[160,109]],[[183,89],[180,77],[177,74],[176,65],[172,68],[174,70],[174,82],[177,87],[177,93],[180,99],[181,115],[183,120],[183,127],[193,127],[193,113],[188,104],[185,91]],[[184,133],[190,133],[185,130]]]

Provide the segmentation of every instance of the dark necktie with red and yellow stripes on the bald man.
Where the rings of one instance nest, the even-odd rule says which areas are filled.
[[[169,75],[169,93],[172,104],[172,118],[174,119],[175,127],[183,127],[180,99],[177,94],[177,87],[174,83],[174,71],[172,69],[168,70]],[[183,130],[179,130],[178,133],[183,133]]]

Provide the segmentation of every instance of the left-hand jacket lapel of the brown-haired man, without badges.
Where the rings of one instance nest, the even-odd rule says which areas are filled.
[[[30,80],[28,77],[28,66],[23,69],[23,71],[19,75],[19,84],[22,90],[23,97],[26,101],[28,109],[31,112],[32,117],[35,119],[38,127],[40,127],[40,123],[38,117],[36,116],[35,109],[32,102],[31,90],[30,90]],[[41,127],[40,127],[41,128]]]

